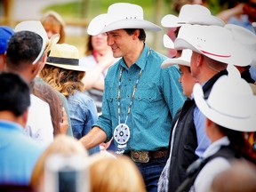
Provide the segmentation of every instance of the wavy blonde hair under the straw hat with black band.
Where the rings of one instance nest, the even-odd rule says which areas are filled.
[[[84,71],[58,68],[47,64],[40,72],[40,77],[65,97],[76,91],[84,92],[85,87],[82,82],[84,76]]]

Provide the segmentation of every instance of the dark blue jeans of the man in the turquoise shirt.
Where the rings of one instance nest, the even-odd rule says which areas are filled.
[[[135,163],[145,181],[148,192],[157,191],[157,182],[166,164],[166,157],[150,159],[148,163]]]

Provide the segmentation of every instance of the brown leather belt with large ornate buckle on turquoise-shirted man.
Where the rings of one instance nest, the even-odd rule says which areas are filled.
[[[157,159],[167,156],[167,149],[157,151],[128,151],[124,153],[126,156],[131,156],[134,162],[148,163],[149,159]]]

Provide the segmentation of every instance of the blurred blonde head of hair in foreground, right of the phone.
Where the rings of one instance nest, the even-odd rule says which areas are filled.
[[[141,173],[128,156],[89,157],[91,192],[146,192]]]

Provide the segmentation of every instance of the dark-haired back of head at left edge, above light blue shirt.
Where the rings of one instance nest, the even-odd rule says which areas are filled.
[[[16,117],[21,116],[30,106],[28,84],[18,75],[0,74],[0,114],[9,111]]]

